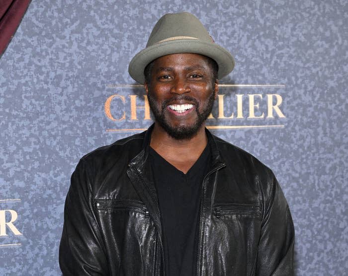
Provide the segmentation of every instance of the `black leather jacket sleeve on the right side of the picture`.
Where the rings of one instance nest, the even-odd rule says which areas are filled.
[[[268,184],[261,187],[264,213],[259,242],[256,275],[294,275],[294,225],[283,192],[270,173]]]

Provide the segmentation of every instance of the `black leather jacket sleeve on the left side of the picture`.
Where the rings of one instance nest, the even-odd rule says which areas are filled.
[[[92,185],[83,159],[71,177],[65,201],[59,264],[64,276],[108,275],[108,263],[93,212]]]

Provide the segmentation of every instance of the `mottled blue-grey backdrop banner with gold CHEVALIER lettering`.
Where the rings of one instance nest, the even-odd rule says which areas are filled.
[[[334,0],[32,0],[0,59],[0,275],[61,275],[70,176],[152,124],[128,64],[180,11],[235,57],[207,128],[275,173],[296,274],[347,275],[348,4]]]

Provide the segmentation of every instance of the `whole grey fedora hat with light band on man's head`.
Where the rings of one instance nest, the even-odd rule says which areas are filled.
[[[144,83],[144,69],[149,63],[178,53],[200,54],[215,60],[219,66],[218,78],[229,74],[235,65],[230,52],[214,43],[196,16],[189,12],[168,13],[156,23],[146,48],[129,63],[129,74],[139,83]]]

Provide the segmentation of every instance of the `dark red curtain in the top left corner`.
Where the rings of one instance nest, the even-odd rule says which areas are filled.
[[[31,0],[0,0],[0,57],[16,32]]]

